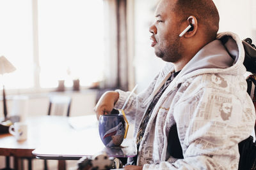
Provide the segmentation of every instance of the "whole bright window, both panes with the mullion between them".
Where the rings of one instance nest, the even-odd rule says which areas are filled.
[[[31,0],[0,1],[0,56],[17,68],[5,76],[6,89],[35,88],[36,84],[52,88],[58,80],[72,86],[76,78],[88,86],[102,80],[103,1],[37,2],[36,6]]]

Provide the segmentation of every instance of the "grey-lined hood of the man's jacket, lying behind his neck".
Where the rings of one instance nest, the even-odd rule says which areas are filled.
[[[232,32],[222,32],[218,34],[216,40],[205,45],[184,66],[177,76],[177,83],[182,83],[199,74],[244,74],[246,68],[243,61],[244,48],[241,39]],[[174,71],[172,63],[166,64],[163,76],[170,74],[170,71]]]

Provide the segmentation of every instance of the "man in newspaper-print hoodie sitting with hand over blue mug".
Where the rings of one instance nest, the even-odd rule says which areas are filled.
[[[183,36],[180,32],[191,25]],[[238,143],[253,131],[241,40],[217,35],[211,0],[161,0],[150,27],[152,47],[166,66],[125,108],[134,121],[138,157],[125,169],[237,169]],[[106,92],[97,117],[122,108],[129,92]],[[230,105],[223,118],[223,103]]]

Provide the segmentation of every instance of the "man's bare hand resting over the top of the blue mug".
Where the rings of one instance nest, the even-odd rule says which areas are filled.
[[[112,110],[119,98],[118,92],[109,91],[105,92],[99,99],[98,103],[96,104],[94,111],[96,112],[97,118],[99,120],[100,115],[107,115]]]

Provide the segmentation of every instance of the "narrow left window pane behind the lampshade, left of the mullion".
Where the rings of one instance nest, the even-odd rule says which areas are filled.
[[[4,55],[17,69],[4,74],[4,85],[6,89],[31,88],[34,85],[31,0],[0,1],[0,8],[0,56]]]

